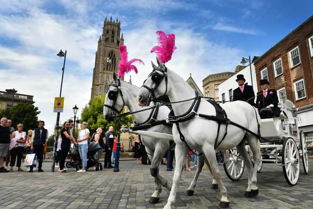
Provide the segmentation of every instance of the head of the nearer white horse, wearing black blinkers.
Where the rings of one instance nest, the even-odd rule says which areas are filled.
[[[156,62],[158,66],[151,62],[153,70],[139,89],[137,95],[139,106],[149,106],[152,98],[158,98],[167,93],[167,68],[158,58]]]

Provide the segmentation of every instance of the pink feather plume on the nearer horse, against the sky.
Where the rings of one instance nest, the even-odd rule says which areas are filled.
[[[172,59],[172,54],[177,48],[175,46],[175,35],[173,33],[165,34],[163,31],[158,30],[156,33],[159,35],[158,46],[154,46],[151,49],[152,52],[156,52],[157,58],[161,63],[166,63]]]

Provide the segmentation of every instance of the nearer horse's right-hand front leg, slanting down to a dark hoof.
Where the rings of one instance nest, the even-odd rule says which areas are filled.
[[[227,190],[222,182],[221,179],[221,171],[218,167],[218,163],[216,161],[216,155],[214,147],[210,144],[203,146],[203,152],[205,154],[206,159],[208,160],[211,169],[212,169],[212,175],[214,179],[217,181],[220,191],[221,191],[221,201],[220,201],[220,208],[228,208],[229,207],[229,200],[227,198]]]

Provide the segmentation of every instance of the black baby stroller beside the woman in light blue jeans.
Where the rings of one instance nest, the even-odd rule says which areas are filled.
[[[96,143],[95,141],[91,141],[88,144],[88,153],[87,153],[87,167],[86,170],[89,167],[95,167],[95,170],[102,170],[103,166],[99,162],[101,155],[103,153],[103,149],[99,145],[99,143]],[[80,160],[80,163],[76,166],[76,170],[82,169],[82,161]]]

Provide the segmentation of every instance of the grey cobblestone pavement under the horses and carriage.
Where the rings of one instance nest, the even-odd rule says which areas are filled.
[[[14,168],[16,170],[16,168]],[[281,166],[264,163],[258,174],[259,195],[244,197],[246,173],[237,182],[230,181],[220,165],[224,185],[228,190],[232,209],[309,209],[313,208],[313,160],[310,160],[308,175],[304,174],[302,163],[300,179],[296,186],[289,186]],[[154,191],[154,179],[149,165],[132,161],[120,161],[120,172],[112,169],[90,170],[77,173],[51,173],[51,163],[44,163],[44,173],[13,172],[1,173],[0,208],[101,208],[101,209],[154,209],[162,208],[169,192],[163,188],[160,203],[149,204]],[[173,172],[160,165],[160,173],[171,180]],[[177,209],[216,209],[219,190],[211,190],[208,170],[202,171],[195,195],[185,196],[187,187],[195,174],[184,171],[179,183],[175,206]]]

